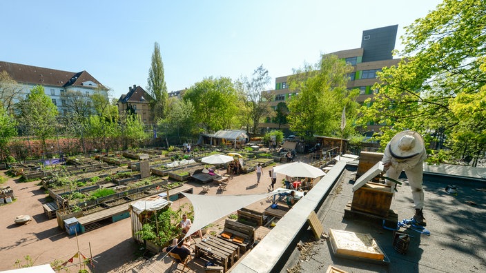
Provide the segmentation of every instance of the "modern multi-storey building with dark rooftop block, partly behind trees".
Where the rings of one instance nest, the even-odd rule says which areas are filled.
[[[330,53],[353,65],[353,72],[349,74],[350,80],[347,88],[358,88],[360,90],[360,95],[357,99],[359,103],[364,103],[366,99],[373,97],[373,94],[375,94],[371,87],[378,81],[376,72],[384,67],[397,65],[400,62],[400,59],[393,59],[391,54],[392,50],[395,49],[397,30],[398,25],[364,30],[360,48]],[[267,91],[275,94],[271,102],[271,107],[274,109],[278,103],[286,102],[292,96],[295,96],[295,93],[289,90],[287,77],[289,76],[275,78],[275,90]],[[378,124],[369,124],[367,130],[371,132],[378,131],[380,127],[381,125]],[[269,128],[271,130],[278,128],[278,124],[267,120],[266,123],[260,123],[260,128]],[[284,131],[288,130],[288,128],[289,125],[280,126],[280,129]]]

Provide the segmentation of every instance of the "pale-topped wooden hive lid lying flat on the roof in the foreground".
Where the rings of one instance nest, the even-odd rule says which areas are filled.
[[[331,243],[336,253],[383,261],[385,254],[370,234],[330,230]]]

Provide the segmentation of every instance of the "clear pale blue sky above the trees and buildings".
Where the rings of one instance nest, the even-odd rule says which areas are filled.
[[[154,43],[168,91],[205,77],[275,77],[321,53],[359,48],[363,30],[403,27],[438,0],[1,1],[0,60],[88,71],[119,98],[147,86]],[[396,48],[401,48],[400,39]]]

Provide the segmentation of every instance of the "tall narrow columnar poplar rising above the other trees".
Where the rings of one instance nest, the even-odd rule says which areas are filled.
[[[164,63],[160,55],[159,43],[154,44],[152,63],[148,70],[148,92],[152,97],[150,106],[154,112],[155,121],[162,119],[166,114],[168,99],[167,86],[164,78]]]

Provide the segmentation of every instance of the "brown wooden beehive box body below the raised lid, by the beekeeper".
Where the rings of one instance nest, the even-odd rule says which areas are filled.
[[[392,198],[389,185],[368,182],[354,192],[351,210],[388,216]]]

